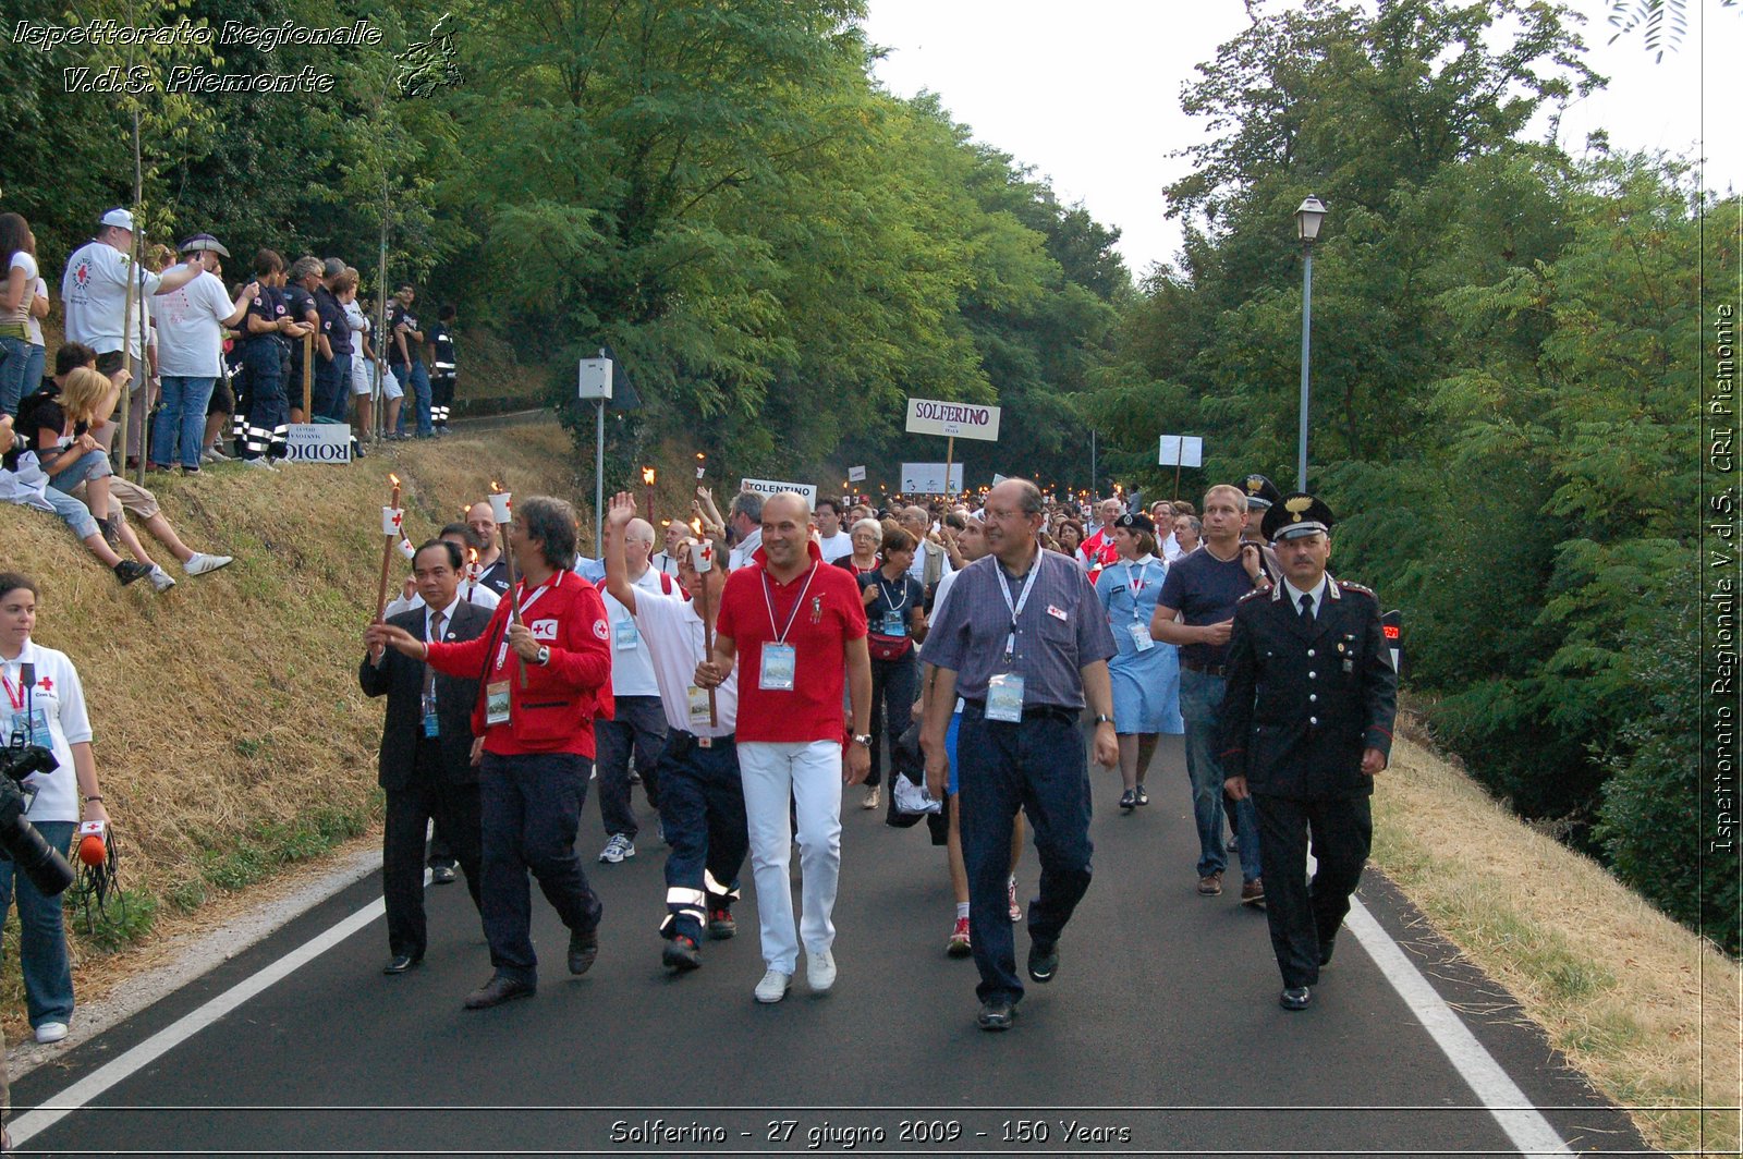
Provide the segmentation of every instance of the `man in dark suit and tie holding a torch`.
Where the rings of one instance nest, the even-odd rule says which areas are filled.
[[[490,626],[490,612],[460,600],[460,549],[451,542],[424,544],[411,561],[424,607],[387,622],[420,641],[476,640]],[[387,694],[382,894],[392,959],[382,973],[403,974],[424,959],[424,831],[431,819],[465,873],[472,905],[479,905],[479,751],[471,723],[478,680],[443,676],[383,647],[370,648],[357,680],[366,695]]]

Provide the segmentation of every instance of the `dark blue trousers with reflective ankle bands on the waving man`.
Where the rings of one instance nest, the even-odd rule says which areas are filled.
[[[662,938],[702,939],[708,910],[730,910],[739,898],[739,870],[749,851],[744,783],[730,741],[676,749],[688,734],[673,732],[659,758],[659,819],[666,826],[666,920]]]

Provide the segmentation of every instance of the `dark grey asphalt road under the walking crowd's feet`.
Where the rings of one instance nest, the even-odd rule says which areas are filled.
[[[64,1107],[78,1081],[295,962],[378,901],[375,875],[19,1081],[14,1131],[33,1131],[19,1154],[1518,1154],[1347,931],[1312,1009],[1279,1009],[1264,915],[1236,887],[1194,891],[1178,739],[1149,788],[1152,803],[1121,816],[1117,774],[1095,770],[1095,884],[1060,976],[1030,985],[1007,1034],[974,1027],[973,962],[943,953],[943,849],[926,826],[885,828],[859,790],[844,802],[833,993],[809,993],[802,967],[784,1002],[753,1002],[748,864],[739,936],[706,943],[701,971],[666,973],[664,845],[638,790],[634,859],[593,861],[605,835],[591,798],[582,823],[605,901],[587,976],[565,973],[566,934],[535,891],[537,997],[464,1011],[488,957],[464,885],[432,885],[418,969],[382,976],[376,917],[47,1128],[26,1114]],[[1018,878],[1027,905],[1032,849]],[[1572,1150],[1644,1149],[1372,868],[1358,896]],[[1020,960],[1025,946],[1018,932]]]

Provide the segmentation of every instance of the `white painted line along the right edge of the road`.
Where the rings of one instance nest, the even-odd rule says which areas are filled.
[[[1490,1054],[1471,1028],[1454,1013],[1440,992],[1429,985],[1422,971],[1393,941],[1361,901],[1351,898],[1349,932],[1356,936],[1361,948],[1368,952],[1380,974],[1393,985],[1398,997],[1405,1000],[1410,1013],[1417,1016],[1422,1028],[1429,1032],[1434,1044],[1447,1054],[1447,1061],[1459,1072],[1471,1091],[1495,1117],[1501,1129],[1508,1133],[1513,1145],[1525,1156],[1572,1156],[1574,1152],[1562,1136],[1556,1135],[1550,1121],[1532,1107],[1525,1091],[1508,1077],[1495,1056]]]

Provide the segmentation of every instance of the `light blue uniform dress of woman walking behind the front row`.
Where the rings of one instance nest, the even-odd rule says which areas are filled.
[[[1095,582],[1095,594],[1119,645],[1119,655],[1107,662],[1114,685],[1114,732],[1185,732],[1180,720],[1180,650],[1161,641],[1140,650],[1133,634],[1136,626],[1136,633],[1150,638],[1150,615],[1166,573],[1166,563],[1145,556],[1142,561],[1110,563]]]

